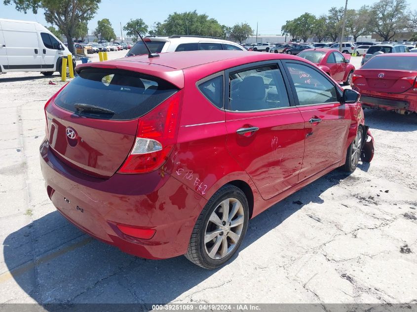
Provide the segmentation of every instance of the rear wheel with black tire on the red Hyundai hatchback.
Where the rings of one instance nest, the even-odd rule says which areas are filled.
[[[224,204],[228,204],[230,214],[234,211],[231,217],[229,213],[228,217],[225,216],[227,221],[222,220]],[[214,220],[218,220],[217,223],[211,221],[213,217]],[[236,225],[230,226],[232,222]],[[204,269],[211,270],[224,265],[239,249],[245,237],[248,222],[249,206],[245,194],[236,186],[226,184],[214,193],[201,211],[192,230],[185,257]],[[211,233],[211,236],[207,233]],[[207,236],[212,239],[205,242],[204,239]]]

